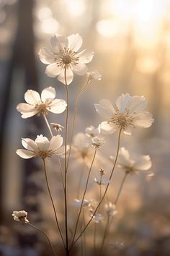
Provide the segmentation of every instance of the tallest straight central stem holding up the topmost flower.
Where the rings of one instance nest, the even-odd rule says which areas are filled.
[[[67,135],[68,135],[68,113],[69,113],[69,92],[66,78],[66,68],[64,70],[64,77],[66,83],[66,101],[67,101],[67,110],[66,110],[66,130],[65,130],[65,176],[64,176],[64,202],[65,202],[65,229],[66,229],[66,254],[69,255],[68,249],[68,213],[67,213]]]

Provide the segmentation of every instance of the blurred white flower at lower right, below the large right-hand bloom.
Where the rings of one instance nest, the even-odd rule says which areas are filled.
[[[138,171],[148,171],[152,166],[149,155],[141,155],[138,159],[130,158],[130,153],[125,148],[120,148],[118,167],[122,168],[127,174],[135,174]]]

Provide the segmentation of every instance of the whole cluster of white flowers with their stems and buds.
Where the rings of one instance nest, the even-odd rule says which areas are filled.
[[[73,34],[66,37],[65,35],[54,35],[50,38],[50,48],[42,48],[39,51],[40,60],[42,63],[47,64],[48,66],[45,69],[45,73],[49,77],[58,77],[58,80],[62,82],[68,91],[68,85],[73,81],[73,73],[84,75],[86,74],[86,85],[91,80],[101,80],[101,74],[95,71],[89,72],[87,70],[86,64],[88,64],[94,56],[93,51],[83,50],[79,51],[82,45],[82,38],[79,34]],[[85,86],[86,87],[86,86]],[[85,88],[84,86],[80,89],[79,93]],[[79,95],[78,93],[78,95]],[[130,153],[125,148],[120,148],[120,133],[124,132],[125,135],[132,135],[133,129],[135,127],[140,128],[148,128],[151,127],[153,123],[153,118],[151,113],[148,111],[144,111],[146,108],[147,102],[144,96],[131,96],[128,93],[120,95],[117,98],[115,103],[115,108],[112,103],[106,99],[102,99],[98,104],[94,104],[97,113],[102,116],[104,121],[97,128],[90,126],[85,129],[85,132],[80,132],[73,137],[74,134],[74,123],[76,119],[76,111],[75,108],[75,116],[73,119],[73,127],[72,127],[72,135],[70,145],[67,145],[68,141],[68,111],[69,111],[69,101],[64,101],[63,99],[55,98],[56,91],[55,88],[48,87],[42,90],[41,95],[37,93],[35,90],[27,90],[24,93],[24,100],[26,103],[19,103],[17,105],[17,111],[22,114],[23,119],[30,118],[32,116],[43,116],[45,119],[45,123],[48,126],[50,131],[51,138],[43,135],[37,135],[35,140],[30,138],[22,138],[22,146],[24,149],[18,149],[17,155],[21,158],[42,158],[45,168],[45,179],[48,185],[48,192],[50,194],[50,199],[52,201],[53,210],[55,213],[55,219],[58,224],[58,231],[60,231],[61,239],[63,240],[62,231],[60,229],[60,225],[57,219],[57,214],[55,210],[55,205],[53,203],[53,198],[50,193],[50,185],[48,184],[48,177],[46,173],[45,161],[46,158],[51,158],[53,156],[58,156],[58,161],[60,163],[60,156],[63,155],[65,158],[65,166],[63,168],[62,164],[61,168],[61,176],[63,179],[63,190],[65,197],[65,204],[67,203],[67,173],[68,173],[68,162],[69,158],[75,159],[75,161],[80,161],[86,167],[89,167],[89,174],[86,179],[86,188],[84,189],[84,194],[81,199],[75,199],[72,205],[75,208],[79,209],[79,216],[76,221],[76,228],[73,234],[73,244],[79,239],[75,240],[76,231],[79,227],[79,218],[81,216],[81,210],[85,208],[88,209],[88,218],[89,223],[94,221],[94,223],[104,223],[105,216],[107,216],[107,220],[112,221],[114,216],[117,214],[116,204],[117,200],[120,196],[120,192],[122,189],[123,182],[125,182],[125,178],[123,179],[122,185],[120,185],[120,191],[117,195],[117,199],[115,204],[109,202],[107,198],[107,203],[104,203],[104,197],[107,193],[107,189],[110,186],[112,181],[112,174],[115,170],[115,166],[118,166],[123,171],[125,171],[125,176],[127,174],[135,174],[138,171],[148,171],[151,168],[151,158],[149,155],[142,155],[136,160],[130,157]],[[78,103],[77,103],[78,105]],[[51,113],[53,114],[62,114],[64,111],[67,111],[66,115],[66,127],[63,127],[61,124],[52,122],[48,123],[47,115]],[[55,129],[56,136],[53,136],[53,132],[51,127]],[[63,137],[59,135],[62,133],[62,130],[65,129],[66,137],[65,137],[65,145],[63,145]],[[105,136],[114,133],[116,130],[119,130],[118,137],[118,145],[117,145],[117,155],[114,158],[114,164],[111,171],[111,174],[105,175],[104,169],[99,168],[99,172],[94,177],[94,182],[99,185],[100,189],[100,198],[99,202],[94,200],[86,200],[86,189],[88,187],[88,182],[91,174],[91,168],[94,167],[94,161],[99,160],[98,151],[100,151],[101,145],[105,142]],[[73,139],[73,142],[72,142]],[[118,162],[118,165],[117,165]],[[64,171],[63,171],[64,169]],[[62,173],[63,172],[63,173]],[[75,183],[78,183],[75,179]],[[81,182],[80,182],[81,184]],[[103,186],[103,187],[102,187]],[[105,189],[102,193],[102,189]],[[79,193],[78,193],[79,194]],[[65,220],[66,220],[66,252],[69,255],[69,247],[68,247],[68,222],[67,222],[67,207],[65,205]],[[102,209],[102,210],[101,210]],[[23,223],[29,223],[27,220],[27,212],[24,210],[14,211],[12,213],[15,221],[21,221]],[[89,225],[89,223],[85,226]],[[106,231],[109,231],[110,223],[106,224]],[[32,226],[32,224],[30,224]],[[40,230],[40,229],[39,229]],[[83,231],[83,232],[84,232]],[[81,232],[81,233],[83,233]],[[42,231],[42,233],[44,233]],[[104,234],[104,239],[105,239]],[[103,244],[104,244],[103,239]],[[49,239],[48,239],[49,240]],[[49,240],[50,241],[50,240]],[[65,245],[65,242],[63,242]],[[102,246],[103,246],[102,244]],[[55,253],[55,252],[54,252]]]

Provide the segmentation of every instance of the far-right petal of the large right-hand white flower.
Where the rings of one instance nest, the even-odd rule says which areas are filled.
[[[154,119],[152,118],[152,114],[147,111],[143,111],[139,114],[135,114],[133,124],[135,127],[148,128],[151,127],[153,121]]]

